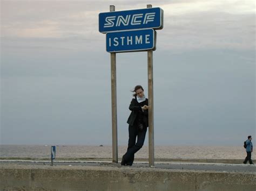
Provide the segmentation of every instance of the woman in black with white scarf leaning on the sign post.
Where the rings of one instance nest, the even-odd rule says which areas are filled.
[[[147,127],[149,126],[149,106],[148,100],[144,95],[144,89],[138,85],[133,90],[134,98],[129,109],[131,114],[127,120],[129,124],[129,141],[127,152],[123,155],[121,165],[132,166],[134,154],[142,148],[146,137]],[[137,143],[136,143],[137,138]]]

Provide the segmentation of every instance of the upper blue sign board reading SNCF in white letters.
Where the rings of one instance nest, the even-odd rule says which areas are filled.
[[[147,8],[99,13],[99,32],[163,29],[163,10]]]

